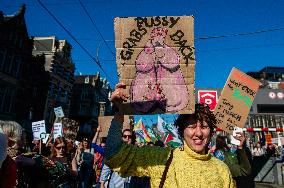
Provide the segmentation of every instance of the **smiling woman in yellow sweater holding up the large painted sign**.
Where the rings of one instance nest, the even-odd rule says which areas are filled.
[[[120,109],[128,96],[120,83],[111,101]],[[229,168],[211,156],[207,146],[216,119],[208,106],[195,105],[194,114],[181,114],[175,121],[183,149],[155,146],[135,147],[122,141],[123,115],[115,114],[108,133],[105,164],[126,176],[149,176],[151,187],[235,187]]]

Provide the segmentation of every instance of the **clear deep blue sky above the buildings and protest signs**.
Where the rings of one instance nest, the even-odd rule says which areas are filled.
[[[109,48],[78,0],[42,2],[94,57],[98,54],[112,86],[118,82],[115,57],[110,52],[115,52],[115,17],[194,15],[197,88],[223,87],[232,67],[247,72],[259,71],[264,66],[284,66],[283,0],[81,0]],[[0,0],[0,10],[11,15],[23,3],[27,6],[25,17],[30,36],[67,39],[73,46],[76,74],[101,72],[37,0]],[[242,33],[254,34],[238,35]],[[223,35],[228,37],[199,39]]]

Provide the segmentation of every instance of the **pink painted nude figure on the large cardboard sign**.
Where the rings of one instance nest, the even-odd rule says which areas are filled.
[[[138,112],[148,113],[157,108],[177,112],[188,104],[180,56],[164,43],[167,32],[166,28],[154,28],[136,58],[136,75],[130,86],[130,100]]]

